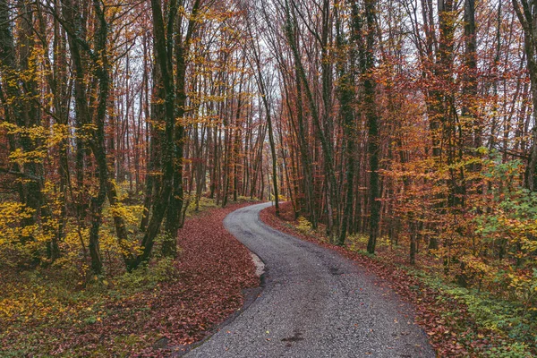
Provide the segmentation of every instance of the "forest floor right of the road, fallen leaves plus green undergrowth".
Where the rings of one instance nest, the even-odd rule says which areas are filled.
[[[329,243],[323,227],[313,231],[294,219],[289,202],[281,205],[279,217],[275,208],[269,207],[260,212],[260,218],[286,234],[337,251],[379,277],[379,285],[388,286],[413,304],[415,320],[427,332],[438,356],[537,356],[534,320],[522,316],[512,303],[447,282],[439,260],[430,255],[419,255],[417,263],[410,265],[401,259],[404,247],[382,240],[376,255],[362,251],[366,237],[351,237],[345,247]]]

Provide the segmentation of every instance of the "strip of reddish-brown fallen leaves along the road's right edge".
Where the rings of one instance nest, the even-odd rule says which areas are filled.
[[[260,217],[268,226],[338,251],[379,277],[379,285],[393,289],[406,302],[413,304],[415,320],[427,333],[430,344],[439,357],[482,356],[495,342],[505,339],[489,329],[478,327],[464,304],[453,297],[440,294],[424,285],[418,278],[409,275],[405,271],[405,263],[393,251],[382,251],[379,254],[382,259],[379,260],[351,251],[347,247],[328,243],[328,239],[321,234],[300,232],[296,229],[298,221],[294,219],[293,208],[289,202],[281,205],[279,217],[276,216],[274,207],[261,211]],[[421,268],[425,267],[422,263]],[[413,268],[420,268],[420,264]]]

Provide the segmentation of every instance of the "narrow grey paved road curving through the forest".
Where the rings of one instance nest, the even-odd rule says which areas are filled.
[[[269,205],[224,221],[265,262],[265,289],[187,357],[435,357],[407,304],[336,251],[263,224]]]

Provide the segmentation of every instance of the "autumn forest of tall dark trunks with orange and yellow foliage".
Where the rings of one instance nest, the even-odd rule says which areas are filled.
[[[0,0],[0,285],[143,280],[204,207],[272,200],[508,303],[533,356],[536,27],[528,0]]]

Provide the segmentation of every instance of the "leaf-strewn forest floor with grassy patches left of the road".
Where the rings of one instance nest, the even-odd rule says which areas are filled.
[[[54,267],[3,271],[0,356],[166,356],[206,337],[260,280],[222,224],[251,203],[204,203],[180,230],[177,260],[83,286]]]

